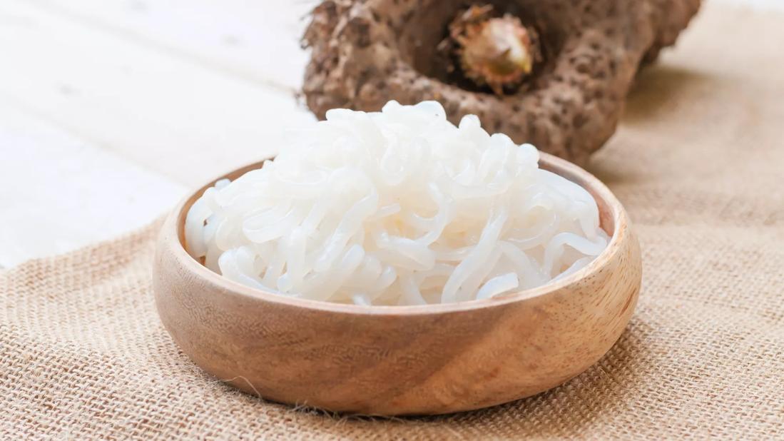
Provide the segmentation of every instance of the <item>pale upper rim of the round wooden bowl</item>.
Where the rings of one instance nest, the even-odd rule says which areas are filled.
[[[222,293],[231,293],[241,297],[245,297],[252,301],[266,301],[274,304],[288,305],[296,308],[307,308],[322,312],[333,312],[351,315],[437,315],[451,312],[464,312],[480,308],[495,308],[506,304],[517,303],[520,301],[532,301],[535,298],[546,296],[549,293],[555,293],[563,290],[567,286],[571,286],[586,276],[601,271],[611,263],[618,253],[622,251],[622,242],[630,235],[629,224],[630,220],[626,210],[619,202],[615,195],[612,194],[609,188],[604,185],[601,180],[594,177],[591,173],[587,172],[572,162],[565,159],[558,158],[554,155],[549,155],[544,152],[539,153],[539,164],[544,165],[553,173],[564,176],[567,179],[575,182],[575,178],[580,182],[575,182],[581,187],[585,188],[593,196],[594,199],[602,199],[604,205],[608,207],[612,219],[612,236],[607,247],[586,267],[581,268],[579,271],[568,275],[557,282],[548,282],[543,286],[537,286],[528,290],[515,291],[513,293],[505,293],[488,299],[459,301],[454,303],[445,304],[419,304],[419,305],[361,305],[361,304],[341,304],[329,301],[316,301],[300,297],[289,297],[279,293],[274,293],[272,290],[260,290],[251,286],[243,285],[239,282],[227,279],[216,272],[212,272],[209,268],[205,267],[201,262],[194,259],[190,253],[185,250],[184,242],[184,224],[187,210],[191,208],[193,203],[200,197],[207,188],[215,185],[218,180],[236,173],[247,173],[252,169],[258,169],[263,166],[263,163],[269,159],[274,158],[271,156],[258,162],[253,162],[248,166],[242,166],[233,169],[230,172],[222,173],[220,177],[210,180],[208,184],[201,186],[196,191],[191,191],[172,209],[169,217],[163,225],[159,246],[169,245],[169,250],[172,257],[176,259],[182,268],[198,276],[205,282],[208,282],[212,289],[217,289]],[[172,231],[173,229],[173,231]],[[606,231],[606,230],[605,230]]]

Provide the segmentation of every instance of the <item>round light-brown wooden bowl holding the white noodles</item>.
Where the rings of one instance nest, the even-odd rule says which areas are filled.
[[[543,392],[586,370],[618,340],[637,304],[641,257],[626,211],[604,184],[550,155],[540,166],[590,191],[612,235],[593,263],[559,282],[422,306],[332,304],[252,289],[183,248],[187,210],[210,183],[176,207],[158,239],[158,313],[198,366],[282,403],[445,414]]]

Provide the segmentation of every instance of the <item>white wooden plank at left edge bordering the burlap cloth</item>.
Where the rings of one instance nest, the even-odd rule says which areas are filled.
[[[0,104],[0,266],[138,228],[185,188]]]

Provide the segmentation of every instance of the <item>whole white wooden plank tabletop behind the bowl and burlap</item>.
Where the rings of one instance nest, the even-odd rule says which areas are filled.
[[[281,148],[314,119],[294,95],[314,4],[0,2],[0,267],[140,227]]]

